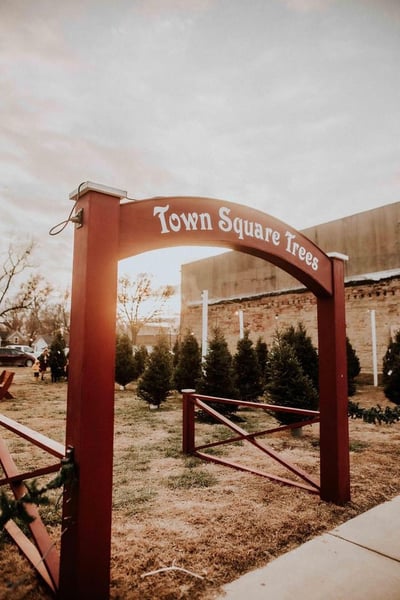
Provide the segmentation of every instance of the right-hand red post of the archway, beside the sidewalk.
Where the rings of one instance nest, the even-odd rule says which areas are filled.
[[[331,255],[333,295],[318,297],[321,499],[350,500],[344,262]]]

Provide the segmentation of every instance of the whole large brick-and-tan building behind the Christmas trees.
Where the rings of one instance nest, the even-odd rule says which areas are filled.
[[[346,326],[363,373],[379,372],[390,337],[400,329],[400,202],[302,231],[346,262]],[[181,332],[202,338],[202,291],[208,291],[208,335],[218,326],[231,351],[239,315],[256,341],[270,344],[279,327],[302,321],[317,345],[316,298],[270,263],[226,252],[182,265]],[[376,358],[375,358],[376,356]]]

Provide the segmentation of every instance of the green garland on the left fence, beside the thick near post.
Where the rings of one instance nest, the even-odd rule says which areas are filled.
[[[34,521],[34,517],[27,513],[26,504],[36,504],[37,506],[46,506],[50,504],[50,499],[46,492],[62,487],[66,483],[71,483],[76,479],[76,468],[73,461],[72,452],[62,460],[62,466],[56,477],[49,481],[45,486],[39,487],[36,479],[31,483],[25,482],[27,488],[24,494],[18,500],[10,499],[4,490],[0,492],[0,530],[10,519],[18,520],[29,525]]]

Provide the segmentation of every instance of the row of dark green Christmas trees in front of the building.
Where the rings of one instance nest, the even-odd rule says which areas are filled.
[[[355,393],[360,362],[347,339],[348,395]],[[207,396],[240,398],[303,409],[318,408],[318,352],[303,324],[276,332],[270,348],[259,338],[254,344],[246,331],[232,355],[221,330],[216,329],[202,362],[196,338],[187,332],[171,353],[160,338],[151,354],[144,347],[132,354],[127,336],[117,339],[116,381],[121,386],[137,380],[139,398],[159,406],[172,389],[195,389]],[[400,404],[400,332],[390,342],[383,361],[384,391]],[[218,410],[232,412],[220,403]],[[279,416],[278,413],[276,415]],[[285,423],[296,419],[281,413]]]

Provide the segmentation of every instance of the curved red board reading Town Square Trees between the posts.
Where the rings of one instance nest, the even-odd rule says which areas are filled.
[[[170,246],[222,246],[268,260],[316,294],[332,294],[326,254],[299,231],[259,210],[179,196],[122,204],[120,214],[119,258]]]

